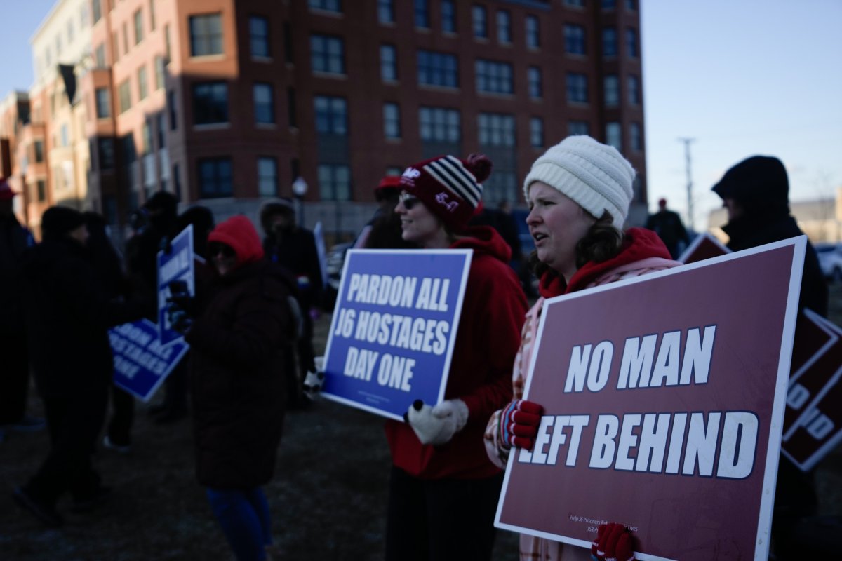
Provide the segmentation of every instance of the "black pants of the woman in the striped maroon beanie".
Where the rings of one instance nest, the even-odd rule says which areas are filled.
[[[418,479],[392,467],[386,561],[487,561],[503,474]]]

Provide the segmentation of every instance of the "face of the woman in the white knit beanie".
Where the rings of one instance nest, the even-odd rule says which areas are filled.
[[[572,199],[540,181],[529,190],[526,225],[535,240],[538,259],[568,281],[576,273],[576,244],[596,219]]]

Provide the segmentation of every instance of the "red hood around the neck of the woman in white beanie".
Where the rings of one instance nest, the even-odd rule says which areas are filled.
[[[565,283],[564,277],[554,271],[546,271],[541,275],[538,292],[544,298],[576,292],[617,267],[649,257],[672,259],[667,246],[663,245],[663,241],[658,237],[658,234],[646,228],[629,228],[626,230],[626,235],[623,236],[620,253],[615,257],[600,263],[593,261],[585,263],[582,268],[573,274],[569,284]]]

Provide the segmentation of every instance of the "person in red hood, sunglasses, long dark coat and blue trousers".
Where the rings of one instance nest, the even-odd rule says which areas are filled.
[[[261,487],[274,474],[284,421],[295,287],[264,258],[245,216],[210,232],[207,257],[215,276],[202,302],[168,309],[190,345],[196,479],[235,557],[260,560],[272,543]]]

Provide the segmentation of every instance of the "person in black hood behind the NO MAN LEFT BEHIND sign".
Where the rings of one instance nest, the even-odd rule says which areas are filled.
[[[803,236],[790,214],[786,167],[774,156],[751,156],[731,167],[711,190],[722,198],[728,222],[722,226],[733,251]],[[804,253],[798,308],[828,315],[828,284],[810,241]],[[796,337],[797,337],[796,333]],[[799,522],[815,514],[818,500],[813,472],[802,472],[789,460],[778,463],[772,547],[781,558],[799,558],[794,536]]]

